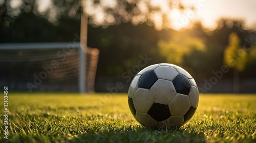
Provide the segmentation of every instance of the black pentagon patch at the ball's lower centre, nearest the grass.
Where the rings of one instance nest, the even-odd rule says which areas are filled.
[[[164,121],[170,117],[170,111],[168,105],[153,103],[150,110],[147,111],[153,119],[158,122]]]

